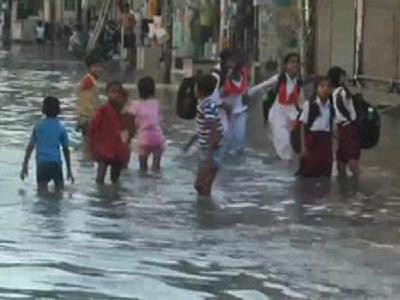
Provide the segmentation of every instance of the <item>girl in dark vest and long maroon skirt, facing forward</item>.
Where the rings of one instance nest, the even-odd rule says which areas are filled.
[[[319,78],[315,95],[303,105],[299,119],[302,124],[299,176],[329,178],[332,174],[334,109],[330,93],[329,79]]]

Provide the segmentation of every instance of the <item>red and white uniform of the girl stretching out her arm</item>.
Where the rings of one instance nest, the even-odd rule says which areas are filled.
[[[290,144],[290,130],[298,116],[298,105],[303,97],[303,92],[298,78],[292,79],[287,74],[285,76],[285,82],[279,82],[278,76],[275,77],[275,85],[279,84],[278,93],[276,101],[269,112],[268,122],[276,154],[281,160],[289,161],[294,158]]]

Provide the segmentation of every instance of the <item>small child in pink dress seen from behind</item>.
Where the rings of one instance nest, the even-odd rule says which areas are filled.
[[[144,77],[138,83],[140,101],[134,101],[130,113],[135,117],[138,127],[138,152],[140,172],[148,171],[147,161],[153,155],[154,172],[161,170],[161,156],[165,138],[160,126],[160,106],[155,96],[155,82],[151,77]]]

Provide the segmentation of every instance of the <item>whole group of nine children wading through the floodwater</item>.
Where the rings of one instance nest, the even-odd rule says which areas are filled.
[[[154,80],[151,77],[140,79],[138,90],[141,101],[132,102],[120,82],[111,82],[106,87],[108,101],[100,105],[96,80],[101,73],[101,64],[90,57],[87,64],[89,73],[78,87],[77,129],[82,132],[88,151],[97,162],[96,182],[104,184],[108,169],[111,181],[118,182],[122,170],[130,161],[130,145],[136,133],[141,173],[148,172],[151,155],[152,170],[160,172],[165,138],[160,126],[160,107],[155,99]],[[223,52],[221,65],[212,73],[200,76],[196,83],[199,168],[195,188],[199,195],[211,195],[213,182],[226,154],[243,153],[248,110],[246,99],[263,89],[275,91],[268,121],[280,159],[294,158],[290,131],[297,122],[302,128],[299,176],[331,176],[336,131],[338,171],[344,175],[349,167],[357,175],[361,154],[354,125],[357,116],[345,83],[346,72],[333,67],[327,77],[316,80],[312,98],[302,104],[304,91],[298,54],[286,56],[280,75],[249,88],[247,70],[240,63],[238,52]],[[73,181],[74,177],[68,134],[58,120],[59,100],[46,98],[43,113],[46,119],[33,130],[21,178],[28,175],[28,162],[36,148],[39,189],[47,190],[48,183],[54,181],[56,189],[61,190],[64,182],[60,146],[67,164],[68,179]]]

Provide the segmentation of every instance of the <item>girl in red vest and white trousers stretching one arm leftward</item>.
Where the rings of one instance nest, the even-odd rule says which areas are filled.
[[[284,70],[280,75],[275,75],[249,89],[247,93],[249,96],[253,96],[262,89],[274,91],[275,99],[268,112],[268,122],[276,154],[281,160],[290,161],[294,158],[290,144],[290,130],[292,123],[298,116],[300,103],[304,98],[302,86],[300,55],[290,53],[284,59]]]

